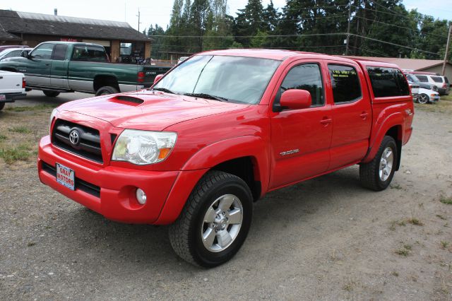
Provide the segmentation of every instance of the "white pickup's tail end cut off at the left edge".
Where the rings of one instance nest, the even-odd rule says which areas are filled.
[[[25,76],[22,73],[0,71],[0,110],[6,102],[14,102],[25,95]]]

